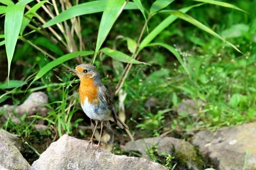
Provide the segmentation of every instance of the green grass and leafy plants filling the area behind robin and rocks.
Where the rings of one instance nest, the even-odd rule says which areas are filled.
[[[33,8],[25,9],[22,20],[25,1]],[[54,4],[22,0],[17,6],[16,2],[2,0],[0,104],[18,105],[31,92],[42,90],[49,96],[47,107],[51,110],[47,117],[34,116],[32,121],[23,116],[19,125],[3,121],[2,127],[29,138],[38,135],[33,126],[38,119],[44,119],[56,132],[48,129],[40,132],[42,136],[90,136],[90,132],[79,129],[80,125],[88,125],[88,118],[75,116],[82,113],[76,94],[79,82],[66,72],[81,59],[99,68],[117,109],[121,95],[118,87],[127,93],[125,116],[121,116],[135,139],[167,132],[188,140],[186,132],[255,121],[256,0],[225,0],[234,5],[231,8],[197,1],[202,2],[170,0],[163,6],[158,2],[152,6],[154,1],[133,0],[122,10],[124,0],[81,0],[79,4],[90,4],[76,6],[75,21],[55,25],[53,21],[64,21],[68,14],[51,20],[42,5],[55,16]],[[176,11],[195,4],[200,5],[187,15],[186,11]],[[64,8],[71,11],[72,6],[74,1]],[[61,13],[59,2],[57,8]],[[85,14],[90,10],[97,13]],[[42,23],[39,16],[50,21]],[[182,20],[174,20],[156,34],[160,23],[170,16]],[[50,25],[57,35],[47,28]],[[150,37],[152,41],[147,41]],[[128,66],[128,74],[122,75]],[[175,111],[184,99],[197,103],[196,116]],[[129,141],[124,131],[117,131]]]

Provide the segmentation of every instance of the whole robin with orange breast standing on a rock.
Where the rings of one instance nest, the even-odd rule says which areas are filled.
[[[79,77],[80,86],[78,93],[81,108],[90,119],[95,121],[95,129],[93,130],[93,134],[88,142],[86,150],[88,149],[89,144],[91,143],[92,145],[93,143],[93,136],[99,123],[101,132],[95,150],[100,147],[103,125],[107,121],[116,122],[120,129],[129,129],[117,116],[115,104],[110,96],[110,92],[102,83],[101,75],[94,65],[80,64],[75,69],[70,69],[68,71]]]

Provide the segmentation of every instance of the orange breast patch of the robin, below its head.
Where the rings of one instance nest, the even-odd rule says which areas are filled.
[[[80,79],[79,86],[79,98],[80,103],[83,104],[86,98],[88,98],[88,102],[91,104],[99,104],[100,100],[98,97],[98,88],[94,86],[93,78],[83,77]]]

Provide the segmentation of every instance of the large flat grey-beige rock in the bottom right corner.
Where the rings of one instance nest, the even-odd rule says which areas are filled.
[[[256,122],[241,126],[223,127],[217,132],[200,131],[192,143],[208,155],[219,170],[242,170],[246,155],[247,169],[256,169]]]

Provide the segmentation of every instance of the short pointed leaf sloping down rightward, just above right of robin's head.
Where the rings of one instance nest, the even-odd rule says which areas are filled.
[[[120,51],[113,50],[113,49],[110,49],[110,48],[102,48],[100,50],[100,52],[110,56],[111,58],[113,58],[117,61],[132,63],[132,64],[146,64],[145,62],[135,60],[127,54],[124,54]]]

